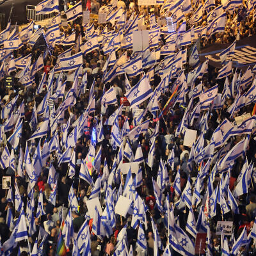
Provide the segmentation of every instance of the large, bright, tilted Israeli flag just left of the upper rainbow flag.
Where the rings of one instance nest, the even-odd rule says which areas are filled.
[[[134,108],[151,97],[152,94],[153,92],[147,76],[144,75],[140,81],[125,94],[125,97],[127,97],[130,102],[130,108]]]

